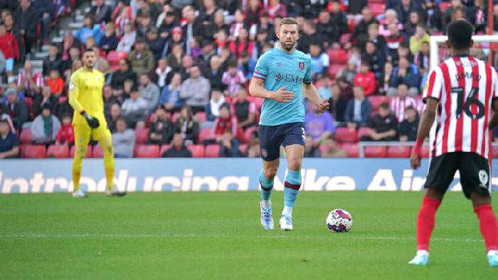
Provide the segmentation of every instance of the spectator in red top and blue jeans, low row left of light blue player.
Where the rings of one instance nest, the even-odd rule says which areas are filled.
[[[240,135],[237,119],[230,114],[228,104],[220,107],[220,114],[213,125],[213,137],[220,145],[221,158],[233,158],[240,156],[238,150],[239,142],[237,136]]]

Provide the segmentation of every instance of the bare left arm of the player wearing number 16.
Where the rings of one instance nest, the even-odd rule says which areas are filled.
[[[433,126],[439,103],[438,99],[430,97],[426,99],[426,102],[425,110],[420,118],[420,124],[418,124],[417,141],[415,141],[415,146],[410,156],[410,165],[415,170],[420,167],[423,141],[429,135],[430,127]]]

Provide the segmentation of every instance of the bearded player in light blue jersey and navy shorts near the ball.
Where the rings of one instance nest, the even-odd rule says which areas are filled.
[[[273,230],[270,195],[273,178],[280,165],[280,145],[287,153],[287,176],[284,188],[284,210],[280,229],[292,230],[292,208],[301,187],[301,165],[304,156],[304,104],[314,105],[317,112],[329,109],[329,102],[322,100],[312,84],[311,60],[295,49],[299,39],[299,26],[295,18],[282,18],[277,31],[280,48],[268,50],[256,64],[249,92],[254,97],[265,98],[260,117],[260,149],[263,170],[261,185],[261,225]]]

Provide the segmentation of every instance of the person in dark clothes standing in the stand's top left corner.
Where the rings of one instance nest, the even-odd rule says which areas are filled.
[[[38,11],[31,5],[31,0],[19,0],[19,7],[14,13],[14,18],[16,18],[16,26],[25,44],[24,53],[31,53],[31,44],[36,42],[36,24],[38,23]]]

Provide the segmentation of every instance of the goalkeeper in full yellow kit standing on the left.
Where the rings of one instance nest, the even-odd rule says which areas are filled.
[[[104,117],[102,87],[104,75],[93,69],[95,52],[90,48],[83,53],[83,68],[71,75],[69,104],[75,110],[73,126],[75,131],[75,156],[73,159],[73,198],[86,197],[80,189],[81,163],[87,154],[90,138],[97,140],[104,154],[104,168],[108,196],[123,196],[114,185],[114,151],[112,138]]]

